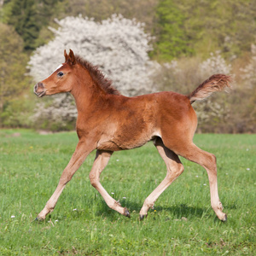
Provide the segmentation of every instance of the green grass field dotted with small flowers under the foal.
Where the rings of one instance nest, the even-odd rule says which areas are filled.
[[[74,132],[0,130],[0,255],[255,255],[256,135],[202,134],[195,143],[218,159],[228,221],[210,206],[207,172],[182,159],[182,176],[139,221],[145,198],[166,176],[152,143],[114,153],[102,185],[131,212],[110,210],[89,180],[94,154],[67,184],[55,211],[33,222],[73,154]]]

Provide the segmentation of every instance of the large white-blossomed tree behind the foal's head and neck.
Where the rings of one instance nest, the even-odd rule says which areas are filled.
[[[156,63],[148,58],[151,37],[143,32],[142,23],[121,15],[113,15],[102,22],[81,16],[66,17],[55,22],[59,25],[58,29],[49,27],[55,38],[36,49],[28,63],[36,81],[48,77],[63,62],[64,49],[73,49],[75,54],[100,67],[122,94],[135,96],[154,90],[150,75]],[[36,121],[56,120],[53,118],[53,109],[56,108],[62,108],[61,112],[55,112],[58,113],[59,128],[65,129],[65,124],[75,119],[75,106],[66,96],[55,96],[49,107],[45,103],[39,104],[44,106],[40,108],[40,116],[36,114],[33,117]]]

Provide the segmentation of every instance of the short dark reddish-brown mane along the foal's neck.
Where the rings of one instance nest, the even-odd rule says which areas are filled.
[[[90,73],[91,78],[98,84],[102,90],[108,94],[120,95],[119,90],[115,89],[110,79],[105,78],[105,75],[97,66],[93,66],[89,61],[85,61],[79,55],[75,55],[76,61],[85,67]]]

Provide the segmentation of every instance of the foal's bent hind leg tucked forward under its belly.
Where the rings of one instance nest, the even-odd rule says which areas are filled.
[[[170,184],[183,172],[183,165],[178,159],[177,154],[172,152],[169,148],[163,144],[162,140],[159,138],[156,139],[154,143],[157,148],[160,156],[166,163],[167,174],[159,186],[154,189],[154,191],[148,195],[147,199],[143,203],[143,207],[140,211],[140,218],[143,219],[147,216],[148,209],[154,207],[154,202],[159,198],[159,196],[170,186]]]

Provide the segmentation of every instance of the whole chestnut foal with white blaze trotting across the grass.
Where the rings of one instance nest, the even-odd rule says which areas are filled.
[[[191,104],[210,96],[212,92],[230,87],[230,77],[214,74],[200,84],[189,96],[172,91],[127,97],[114,89],[109,79],[90,62],[70,49],[65,62],[47,79],[34,86],[38,97],[61,92],[71,92],[78,109],[76,131],[79,143],[67,167],[61,174],[54,194],[36,219],[44,220],[55,208],[66,184],[82,165],[87,155],[96,149],[96,158],[90,171],[90,183],[106,201],[108,207],[130,217],[126,207],[121,207],[100,183],[100,174],[114,151],[138,148],[154,142],[166,163],[166,177],[148,195],[140,211],[140,218],[148,214],[163,191],[183,172],[178,155],[193,161],[207,170],[211,205],[222,221],[227,219],[218,198],[217,166],[214,154],[198,148],[193,143],[197,117]]]

